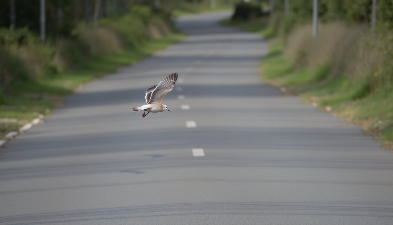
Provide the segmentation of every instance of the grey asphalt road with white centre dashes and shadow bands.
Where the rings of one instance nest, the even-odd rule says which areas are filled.
[[[0,224],[393,224],[393,154],[261,82],[267,43],[227,15],[182,17],[185,41],[0,149]],[[172,112],[131,111],[173,72]]]

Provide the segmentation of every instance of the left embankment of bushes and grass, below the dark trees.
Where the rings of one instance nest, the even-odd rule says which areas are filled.
[[[0,139],[61,106],[62,99],[82,84],[184,38],[168,15],[137,10],[100,20],[95,47],[91,25],[80,24],[72,37],[48,40],[46,45],[27,30],[13,35],[2,30],[6,43],[0,49],[0,118],[12,120],[0,122]]]

